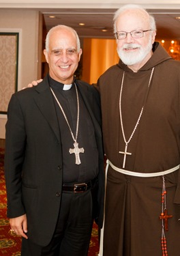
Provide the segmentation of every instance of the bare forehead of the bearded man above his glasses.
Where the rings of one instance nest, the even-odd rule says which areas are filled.
[[[143,10],[125,10],[116,21],[117,31],[149,29],[149,15]]]

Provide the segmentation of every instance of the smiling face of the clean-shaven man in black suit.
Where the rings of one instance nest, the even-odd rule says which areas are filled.
[[[81,54],[73,31],[65,27],[54,29],[49,35],[48,51],[44,50],[50,77],[60,83],[71,84]]]

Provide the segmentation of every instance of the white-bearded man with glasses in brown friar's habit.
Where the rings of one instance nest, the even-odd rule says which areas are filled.
[[[100,255],[179,256],[180,61],[140,6],[117,10],[114,31],[121,60],[98,81],[109,165]]]

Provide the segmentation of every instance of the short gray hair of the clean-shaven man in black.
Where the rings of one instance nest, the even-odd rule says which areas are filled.
[[[66,30],[69,30],[69,31],[72,31],[72,33],[74,33],[74,35],[76,36],[76,44],[77,44],[77,51],[79,53],[80,51],[80,39],[78,37],[78,33],[76,32],[76,30],[74,30],[72,27],[68,27],[68,26],[65,26],[65,25],[57,25],[55,27],[52,27],[52,29],[50,29],[46,35],[46,42],[45,42],[45,48],[46,48],[46,51],[48,52],[49,50],[49,38],[50,38],[50,34],[55,31],[55,30],[58,30],[58,29],[66,29]]]

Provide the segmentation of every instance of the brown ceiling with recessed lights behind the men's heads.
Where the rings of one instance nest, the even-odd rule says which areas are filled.
[[[42,10],[44,29],[59,24],[73,27],[80,38],[113,38],[112,19],[116,9],[53,9]],[[180,10],[148,10],[156,20],[157,40],[180,40]],[[55,18],[49,18],[55,16]],[[84,26],[78,25],[85,23]],[[106,31],[102,31],[106,29]]]

